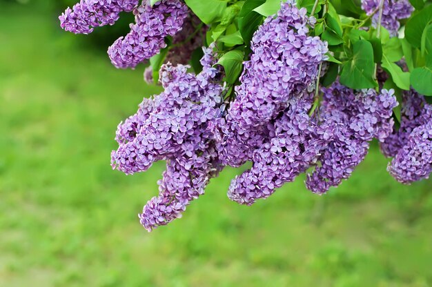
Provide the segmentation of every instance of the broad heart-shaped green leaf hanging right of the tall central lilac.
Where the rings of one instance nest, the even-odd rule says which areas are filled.
[[[340,83],[352,89],[374,88],[374,72],[372,44],[366,40],[353,43],[353,58],[343,63]]]

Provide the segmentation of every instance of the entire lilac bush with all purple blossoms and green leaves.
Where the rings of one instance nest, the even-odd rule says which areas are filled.
[[[139,213],[146,230],[181,217],[226,166],[251,164],[228,188],[245,205],[300,175],[328,192],[372,141],[397,181],[429,177],[432,52],[419,30],[432,6],[363,0],[366,16],[346,17],[336,2],[81,0],[61,14],[64,30],[83,34],[135,14],[108,55],[163,92],[119,124],[111,165],[132,175],[166,162],[159,195]]]

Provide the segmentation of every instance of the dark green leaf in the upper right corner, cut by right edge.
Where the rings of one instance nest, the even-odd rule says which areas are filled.
[[[415,14],[405,26],[405,39],[415,48],[421,48],[424,28],[432,21],[432,5]]]

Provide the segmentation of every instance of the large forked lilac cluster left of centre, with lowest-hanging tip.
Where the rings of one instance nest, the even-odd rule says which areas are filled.
[[[214,63],[206,62],[212,59],[203,58],[206,68],[199,75],[188,73],[188,66],[164,65],[164,92],[144,99],[138,112],[117,130],[119,149],[112,152],[113,168],[130,175],[147,170],[155,161],[167,161],[159,197],[148,201],[139,215],[147,230],[180,217],[222,168],[210,126],[221,116],[224,87],[215,81]]]

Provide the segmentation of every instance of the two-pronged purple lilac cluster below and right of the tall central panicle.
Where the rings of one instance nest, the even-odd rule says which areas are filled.
[[[253,167],[232,181],[230,199],[253,204],[313,166],[306,187],[322,194],[351,176],[372,139],[384,141],[391,134],[397,106],[393,90],[354,92],[336,82],[323,92],[319,116],[308,116],[313,97],[303,92],[267,123]]]

